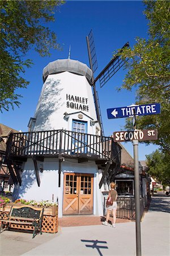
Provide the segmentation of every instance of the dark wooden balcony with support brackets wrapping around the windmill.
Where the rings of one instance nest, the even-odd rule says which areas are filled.
[[[11,133],[7,141],[6,162],[15,184],[19,182],[21,185],[20,164],[27,161],[28,158],[33,159],[39,186],[40,177],[37,160],[43,162],[44,158],[58,158],[59,187],[63,159],[78,159],[78,163],[93,160],[98,166],[100,165],[100,168],[104,169],[99,184],[99,187],[101,187],[107,173],[109,172],[109,177],[112,176],[114,167],[120,166],[120,146],[114,143],[111,137],[66,130]]]

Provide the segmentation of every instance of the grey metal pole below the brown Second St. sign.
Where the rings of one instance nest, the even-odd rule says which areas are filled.
[[[135,183],[135,226],[137,256],[141,256],[141,205],[139,183],[138,140],[133,141],[134,150],[134,183]]]

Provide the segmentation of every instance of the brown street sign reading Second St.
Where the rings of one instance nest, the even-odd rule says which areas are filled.
[[[155,141],[158,139],[158,130],[134,130],[134,131],[115,131],[113,133],[114,142],[123,141]]]

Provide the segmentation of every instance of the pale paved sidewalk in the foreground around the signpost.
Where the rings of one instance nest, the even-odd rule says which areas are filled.
[[[170,255],[169,199],[154,196],[141,222],[142,256]],[[110,226],[61,228],[57,234],[37,235],[5,231],[0,236],[1,255],[131,255],[135,256],[135,222]]]

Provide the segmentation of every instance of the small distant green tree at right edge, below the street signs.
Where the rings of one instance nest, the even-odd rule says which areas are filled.
[[[160,150],[146,156],[148,174],[154,177],[162,185],[170,185],[170,160],[169,155]]]

